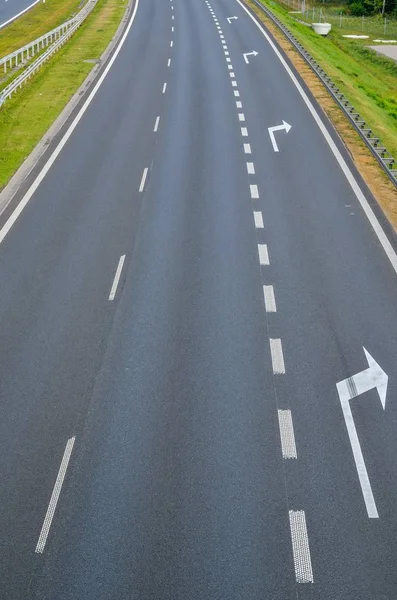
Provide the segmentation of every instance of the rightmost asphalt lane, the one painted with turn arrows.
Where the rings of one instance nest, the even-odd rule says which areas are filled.
[[[275,53],[237,3],[212,3],[247,119],[284,341],[282,408],[292,410],[298,461],[287,464],[291,506],[304,506],[314,598],[394,598],[396,578],[396,274],[324,137]],[[226,27],[226,25],[224,26]],[[247,65],[244,52],[256,50]],[[277,136],[268,127],[292,125]],[[250,124],[251,127],[250,127]],[[336,137],[336,136],[335,136]],[[336,138],[337,139],[337,138]],[[389,374],[386,410],[375,390],[352,401],[379,519],[367,516],[336,382],[368,367]]]

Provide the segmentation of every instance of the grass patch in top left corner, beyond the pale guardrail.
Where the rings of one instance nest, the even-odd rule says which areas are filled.
[[[0,30],[0,57],[7,56],[70,19],[85,0],[46,0]]]

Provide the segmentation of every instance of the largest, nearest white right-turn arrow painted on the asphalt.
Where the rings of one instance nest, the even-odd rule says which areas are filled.
[[[343,379],[336,384],[336,388],[338,390],[339,400],[342,406],[347,433],[349,434],[349,440],[353,451],[354,462],[356,463],[358,478],[360,480],[361,491],[364,496],[367,514],[370,519],[378,519],[379,514],[376,508],[375,498],[372,493],[363,453],[361,451],[356,425],[353,420],[353,415],[350,408],[350,400],[376,388],[382,408],[384,410],[386,406],[387,383],[389,378],[382,367],[378,365],[376,360],[365,348],[364,352],[368,361],[368,369],[357,373],[357,375]]]

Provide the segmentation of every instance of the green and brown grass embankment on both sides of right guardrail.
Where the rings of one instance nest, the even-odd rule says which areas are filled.
[[[298,52],[270,19],[246,0],[259,18],[272,31],[290,60],[311,89],[319,104],[341,135],[367,185],[377,197],[389,220],[397,230],[397,192],[378,162],[351,126],[347,117],[321,84]],[[342,38],[331,31],[323,38],[302,24],[279,4],[261,0],[283,22],[311,53],[341,91],[346,94],[374,133],[397,158],[397,63],[378,56],[358,40]],[[298,15],[297,15],[298,16]]]

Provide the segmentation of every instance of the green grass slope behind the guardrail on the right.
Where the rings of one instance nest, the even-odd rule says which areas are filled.
[[[278,3],[261,1],[287,25],[397,157],[397,62],[379,56],[362,41],[343,38],[335,30],[323,38],[297,23]]]

